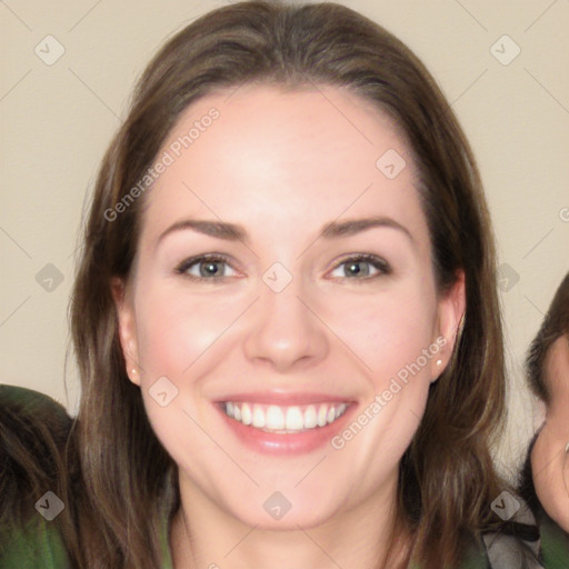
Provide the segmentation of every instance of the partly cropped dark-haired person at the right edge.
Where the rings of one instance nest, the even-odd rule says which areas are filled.
[[[546,420],[531,441],[521,493],[558,546],[551,555],[569,559],[569,273],[559,286],[531,342],[527,373],[546,407]],[[559,525],[559,527],[557,527]],[[565,542],[565,549],[562,543]],[[548,543],[542,542],[543,550]],[[556,549],[549,548],[549,549]],[[568,565],[569,567],[569,565]]]

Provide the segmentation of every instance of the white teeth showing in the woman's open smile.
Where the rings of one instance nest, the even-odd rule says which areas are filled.
[[[277,406],[224,401],[221,410],[241,425],[274,435],[295,435],[320,429],[337,421],[348,402]]]

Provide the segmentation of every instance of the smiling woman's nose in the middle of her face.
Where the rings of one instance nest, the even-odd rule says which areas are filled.
[[[301,279],[274,292],[262,283],[260,298],[251,308],[251,322],[244,341],[247,358],[262,362],[274,371],[313,366],[329,351],[327,327],[319,318],[318,307],[305,298]]]

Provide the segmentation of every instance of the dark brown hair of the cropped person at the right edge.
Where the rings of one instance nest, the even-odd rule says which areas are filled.
[[[569,273],[559,284],[526,359],[531,390],[547,405],[550,402],[550,393],[545,369],[546,357],[552,343],[563,335],[569,338]]]

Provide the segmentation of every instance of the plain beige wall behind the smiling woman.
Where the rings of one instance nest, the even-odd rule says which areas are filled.
[[[150,56],[223,3],[0,2],[1,382],[50,393],[74,411],[72,358],[67,395],[64,387],[66,315],[86,192]],[[511,467],[532,432],[522,358],[569,269],[569,1],[343,3],[426,62],[479,160],[505,263],[512,389],[498,458]]]

